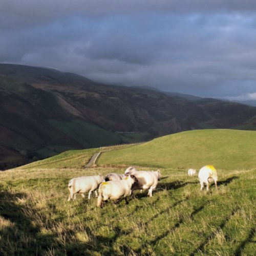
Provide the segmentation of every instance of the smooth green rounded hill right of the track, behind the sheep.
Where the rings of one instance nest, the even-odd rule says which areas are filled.
[[[164,168],[247,169],[256,166],[256,132],[195,130],[167,135],[131,148],[103,153],[98,164]]]

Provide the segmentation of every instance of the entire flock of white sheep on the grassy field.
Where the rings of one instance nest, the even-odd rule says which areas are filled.
[[[188,175],[196,175],[196,169],[189,169]],[[212,165],[203,166],[198,173],[201,189],[206,184],[206,189],[209,190],[209,183],[214,181],[217,189],[217,170]],[[160,170],[156,172],[136,170],[135,167],[129,167],[125,170],[124,174],[110,173],[105,177],[97,176],[83,176],[73,178],[69,181],[68,188],[70,195],[68,201],[76,198],[79,193],[84,197],[84,193],[89,192],[88,199],[91,198],[91,193],[94,191],[95,196],[98,197],[97,206],[102,207],[103,202],[113,200],[119,202],[121,198],[125,199],[128,204],[127,196],[134,198],[134,190],[148,189],[147,195],[152,197],[152,191],[156,189],[158,181],[160,180]],[[97,193],[97,188],[99,194]]]

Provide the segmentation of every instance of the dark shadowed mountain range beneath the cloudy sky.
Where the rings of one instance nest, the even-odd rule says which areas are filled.
[[[256,108],[110,86],[49,68],[0,65],[0,169],[70,149],[206,128],[247,129]],[[250,128],[251,129],[251,128]]]

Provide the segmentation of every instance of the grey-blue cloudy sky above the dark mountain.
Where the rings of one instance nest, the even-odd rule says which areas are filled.
[[[256,1],[1,0],[0,62],[256,99]]]

